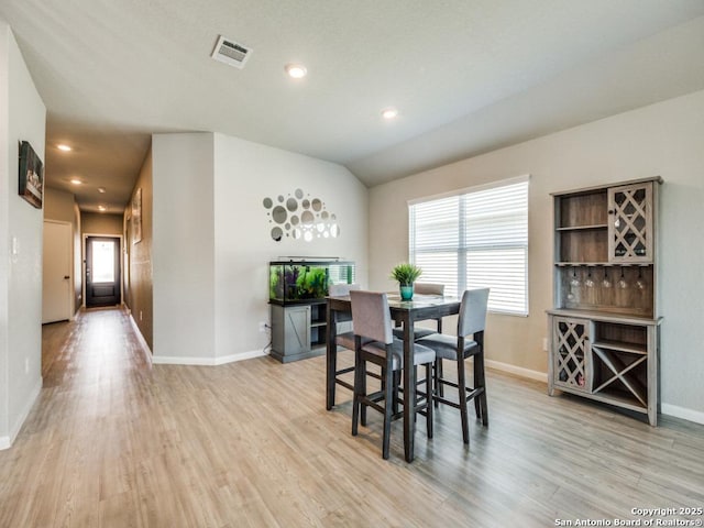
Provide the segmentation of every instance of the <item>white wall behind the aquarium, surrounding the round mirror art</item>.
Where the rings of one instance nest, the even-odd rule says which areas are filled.
[[[254,355],[268,343],[268,261],[278,256],[340,256],[354,261],[366,284],[367,190],[346,168],[287,151],[216,134],[216,348],[219,361]],[[305,242],[271,237],[264,198],[296,189],[320,198],[340,237]]]

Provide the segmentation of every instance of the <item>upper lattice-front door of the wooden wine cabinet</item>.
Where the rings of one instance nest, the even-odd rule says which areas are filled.
[[[608,189],[610,262],[652,262],[652,182]]]

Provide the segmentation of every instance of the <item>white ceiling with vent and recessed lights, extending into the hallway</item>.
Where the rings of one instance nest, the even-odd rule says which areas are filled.
[[[0,18],[48,110],[46,183],[84,210],[122,210],[153,132],[373,186],[704,89],[702,0],[0,0]],[[244,69],[210,58],[220,34],[253,50]]]

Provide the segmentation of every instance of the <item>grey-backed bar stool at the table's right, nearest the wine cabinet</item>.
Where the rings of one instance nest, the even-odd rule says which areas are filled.
[[[462,418],[462,440],[470,443],[470,428],[468,420],[468,403],[474,399],[476,417],[482,425],[488,426],[488,408],[486,404],[486,381],[484,376],[484,327],[486,326],[486,305],[488,288],[468,289],[462,295],[460,316],[458,317],[458,334],[447,336],[437,333],[418,340],[418,344],[428,346],[436,352],[435,370],[435,400],[460,409]],[[472,339],[468,339],[472,336]],[[474,358],[473,387],[466,385],[464,360]],[[458,369],[458,382],[454,383],[442,376],[442,360],[454,361]],[[443,386],[458,389],[458,402],[444,398]]]

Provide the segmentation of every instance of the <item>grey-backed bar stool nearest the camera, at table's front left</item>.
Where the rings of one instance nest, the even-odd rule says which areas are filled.
[[[382,457],[388,459],[392,419],[398,400],[398,384],[394,382],[396,373],[404,367],[404,343],[394,339],[392,318],[386,294],[374,292],[350,292],[352,319],[354,320],[354,402],[352,407],[352,436],[358,435],[360,414],[362,425],[366,425],[364,410],[367,407],[384,415]],[[366,338],[370,342],[364,343]],[[418,393],[414,409],[405,413],[420,413],[426,416],[428,438],[432,438],[432,365],[436,353],[426,346],[414,346],[413,365],[406,369],[426,367],[426,391]],[[366,392],[366,365],[372,363],[382,369],[382,387],[372,394]],[[383,405],[380,403],[383,400]]]

